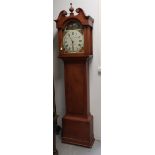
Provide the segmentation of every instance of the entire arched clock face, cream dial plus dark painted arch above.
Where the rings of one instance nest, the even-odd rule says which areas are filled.
[[[78,22],[66,26],[63,36],[63,48],[66,52],[76,53],[84,48],[83,29]]]

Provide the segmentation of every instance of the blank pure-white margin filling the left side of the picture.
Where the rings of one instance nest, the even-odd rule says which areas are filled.
[[[52,1],[0,1],[0,154],[52,155]]]

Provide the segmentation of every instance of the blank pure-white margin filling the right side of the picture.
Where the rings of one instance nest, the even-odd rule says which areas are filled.
[[[103,154],[155,154],[155,1],[104,0]]]

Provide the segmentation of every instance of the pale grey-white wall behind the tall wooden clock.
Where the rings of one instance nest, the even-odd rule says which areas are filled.
[[[66,10],[70,7],[70,2],[73,3],[74,9],[81,7],[84,9],[87,15],[94,18],[93,29],[93,51],[94,56],[90,61],[90,111],[94,116],[94,135],[96,139],[101,138],[101,75],[98,73],[100,67],[100,2],[99,0],[56,0],[54,1],[54,19],[58,17],[61,10]],[[63,76],[63,62],[57,58],[57,29],[54,23],[53,25],[53,37],[54,37],[54,76],[55,76],[55,89],[56,89],[56,104],[57,113],[59,116],[59,123],[61,124],[61,118],[65,113],[64,103],[64,76]]]

